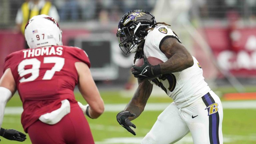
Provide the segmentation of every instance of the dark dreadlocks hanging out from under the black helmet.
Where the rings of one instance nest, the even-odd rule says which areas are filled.
[[[165,22],[157,22],[157,23],[153,24],[150,28],[145,29],[145,31],[146,31],[146,32],[147,32],[148,30],[152,31],[152,30],[157,26],[157,24],[163,24],[163,25],[171,26],[171,25],[169,25],[169,24],[166,24]],[[175,33],[174,33],[174,34],[175,34]],[[176,34],[175,34],[175,35],[176,35]],[[141,59],[141,58],[143,58],[143,56],[144,56],[144,50],[143,50],[143,48],[144,48],[145,40],[142,39],[142,38],[140,38],[140,40],[141,40],[142,42],[141,42],[140,45],[138,46],[137,52],[136,52],[136,54],[135,54],[135,56],[134,56],[133,63],[135,63],[136,59]]]

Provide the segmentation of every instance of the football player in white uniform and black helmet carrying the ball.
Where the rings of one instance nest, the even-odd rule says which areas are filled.
[[[119,22],[119,47],[125,54],[136,53],[134,63],[144,58],[144,64],[133,65],[132,73],[139,86],[125,109],[117,114],[118,123],[136,135],[130,128],[136,128],[131,120],[143,112],[152,84],[156,84],[174,102],[158,116],[142,144],[175,143],[189,132],[194,144],[222,144],[223,109],[219,97],[204,81],[199,62],[178,36],[158,24],[168,25],[156,23],[155,17],[144,10],[130,11]],[[164,63],[152,66],[147,57],[156,57]]]

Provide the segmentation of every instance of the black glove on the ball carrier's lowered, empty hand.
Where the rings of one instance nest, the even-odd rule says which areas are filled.
[[[133,128],[136,128],[136,126],[128,119],[129,116],[134,117],[135,114],[132,114],[129,111],[120,112],[116,115],[116,120],[122,127],[133,135],[136,135],[136,133],[130,128],[130,126]]]

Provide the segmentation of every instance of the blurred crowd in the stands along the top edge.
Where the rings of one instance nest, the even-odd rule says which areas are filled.
[[[1,0],[1,28],[13,26],[18,9],[25,0]],[[26,0],[29,1],[29,0]],[[31,0],[33,1],[33,0]],[[165,5],[176,0],[50,0],[56,6],[61,22],[70,21],[118,21],[133,9],[152,11],[157,3]],[[202,19],[226,19],[237,15],[243,19],[254,20],[255,0],[191,0],[192,11],[198,11]],[[190,2],[188,2],[190,3]],[[195,14],[195,13],[189,13]]]

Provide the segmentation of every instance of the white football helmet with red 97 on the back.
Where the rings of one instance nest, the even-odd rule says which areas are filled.
[[[29,48],[62,45],[59,24],[48,15],[32,17],[25,26],[25,38]]]

